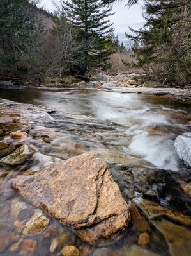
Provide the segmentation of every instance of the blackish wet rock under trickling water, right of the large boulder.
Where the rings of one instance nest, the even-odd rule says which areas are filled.
[[[180,172],[151,168],[131,168],[119,166],[112,171],[114,180],[125,198],[135,198],[137,193],[142,198],[152,200],[161,205],[169,205],[170,208],[191,214],[191,199],[185,194],[179,180],[189,182],[190,170],[181,169]]]

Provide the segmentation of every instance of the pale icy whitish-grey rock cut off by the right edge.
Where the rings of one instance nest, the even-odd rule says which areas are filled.
[[[176,137],[174,146],[181,160],[188,167],[191,167],[191,133],[185,132],[183,135]]]

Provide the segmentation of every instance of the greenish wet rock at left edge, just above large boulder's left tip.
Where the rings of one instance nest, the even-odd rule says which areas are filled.
[[[10,155],[2,158],[0,160],[0,164],[8,164],[11,166],[22,164],[27,158],[31,157],[32,151],[26,144],[17,148],[13,153]]]

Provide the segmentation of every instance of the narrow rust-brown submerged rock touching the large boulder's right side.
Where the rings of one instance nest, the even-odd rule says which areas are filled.
[[[141,216],[141,214],[139,213],[139,211],[137,210],[137,207],[135,206],[134,203],[129,203],[128,204],[128,209],[130,211],[130,215],[131,215],[131,221],[133,224],[133,229],[137,232],[148,232],[149,230],[151,230],[151,228],[149,227],[146,219]]]

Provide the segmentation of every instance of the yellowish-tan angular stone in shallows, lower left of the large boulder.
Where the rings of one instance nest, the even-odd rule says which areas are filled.
[[[26,227],[22,232],[24,235],[39,235],[48,224],[49,219],[40,210],[36,210],[33,217],[26,223]]]

